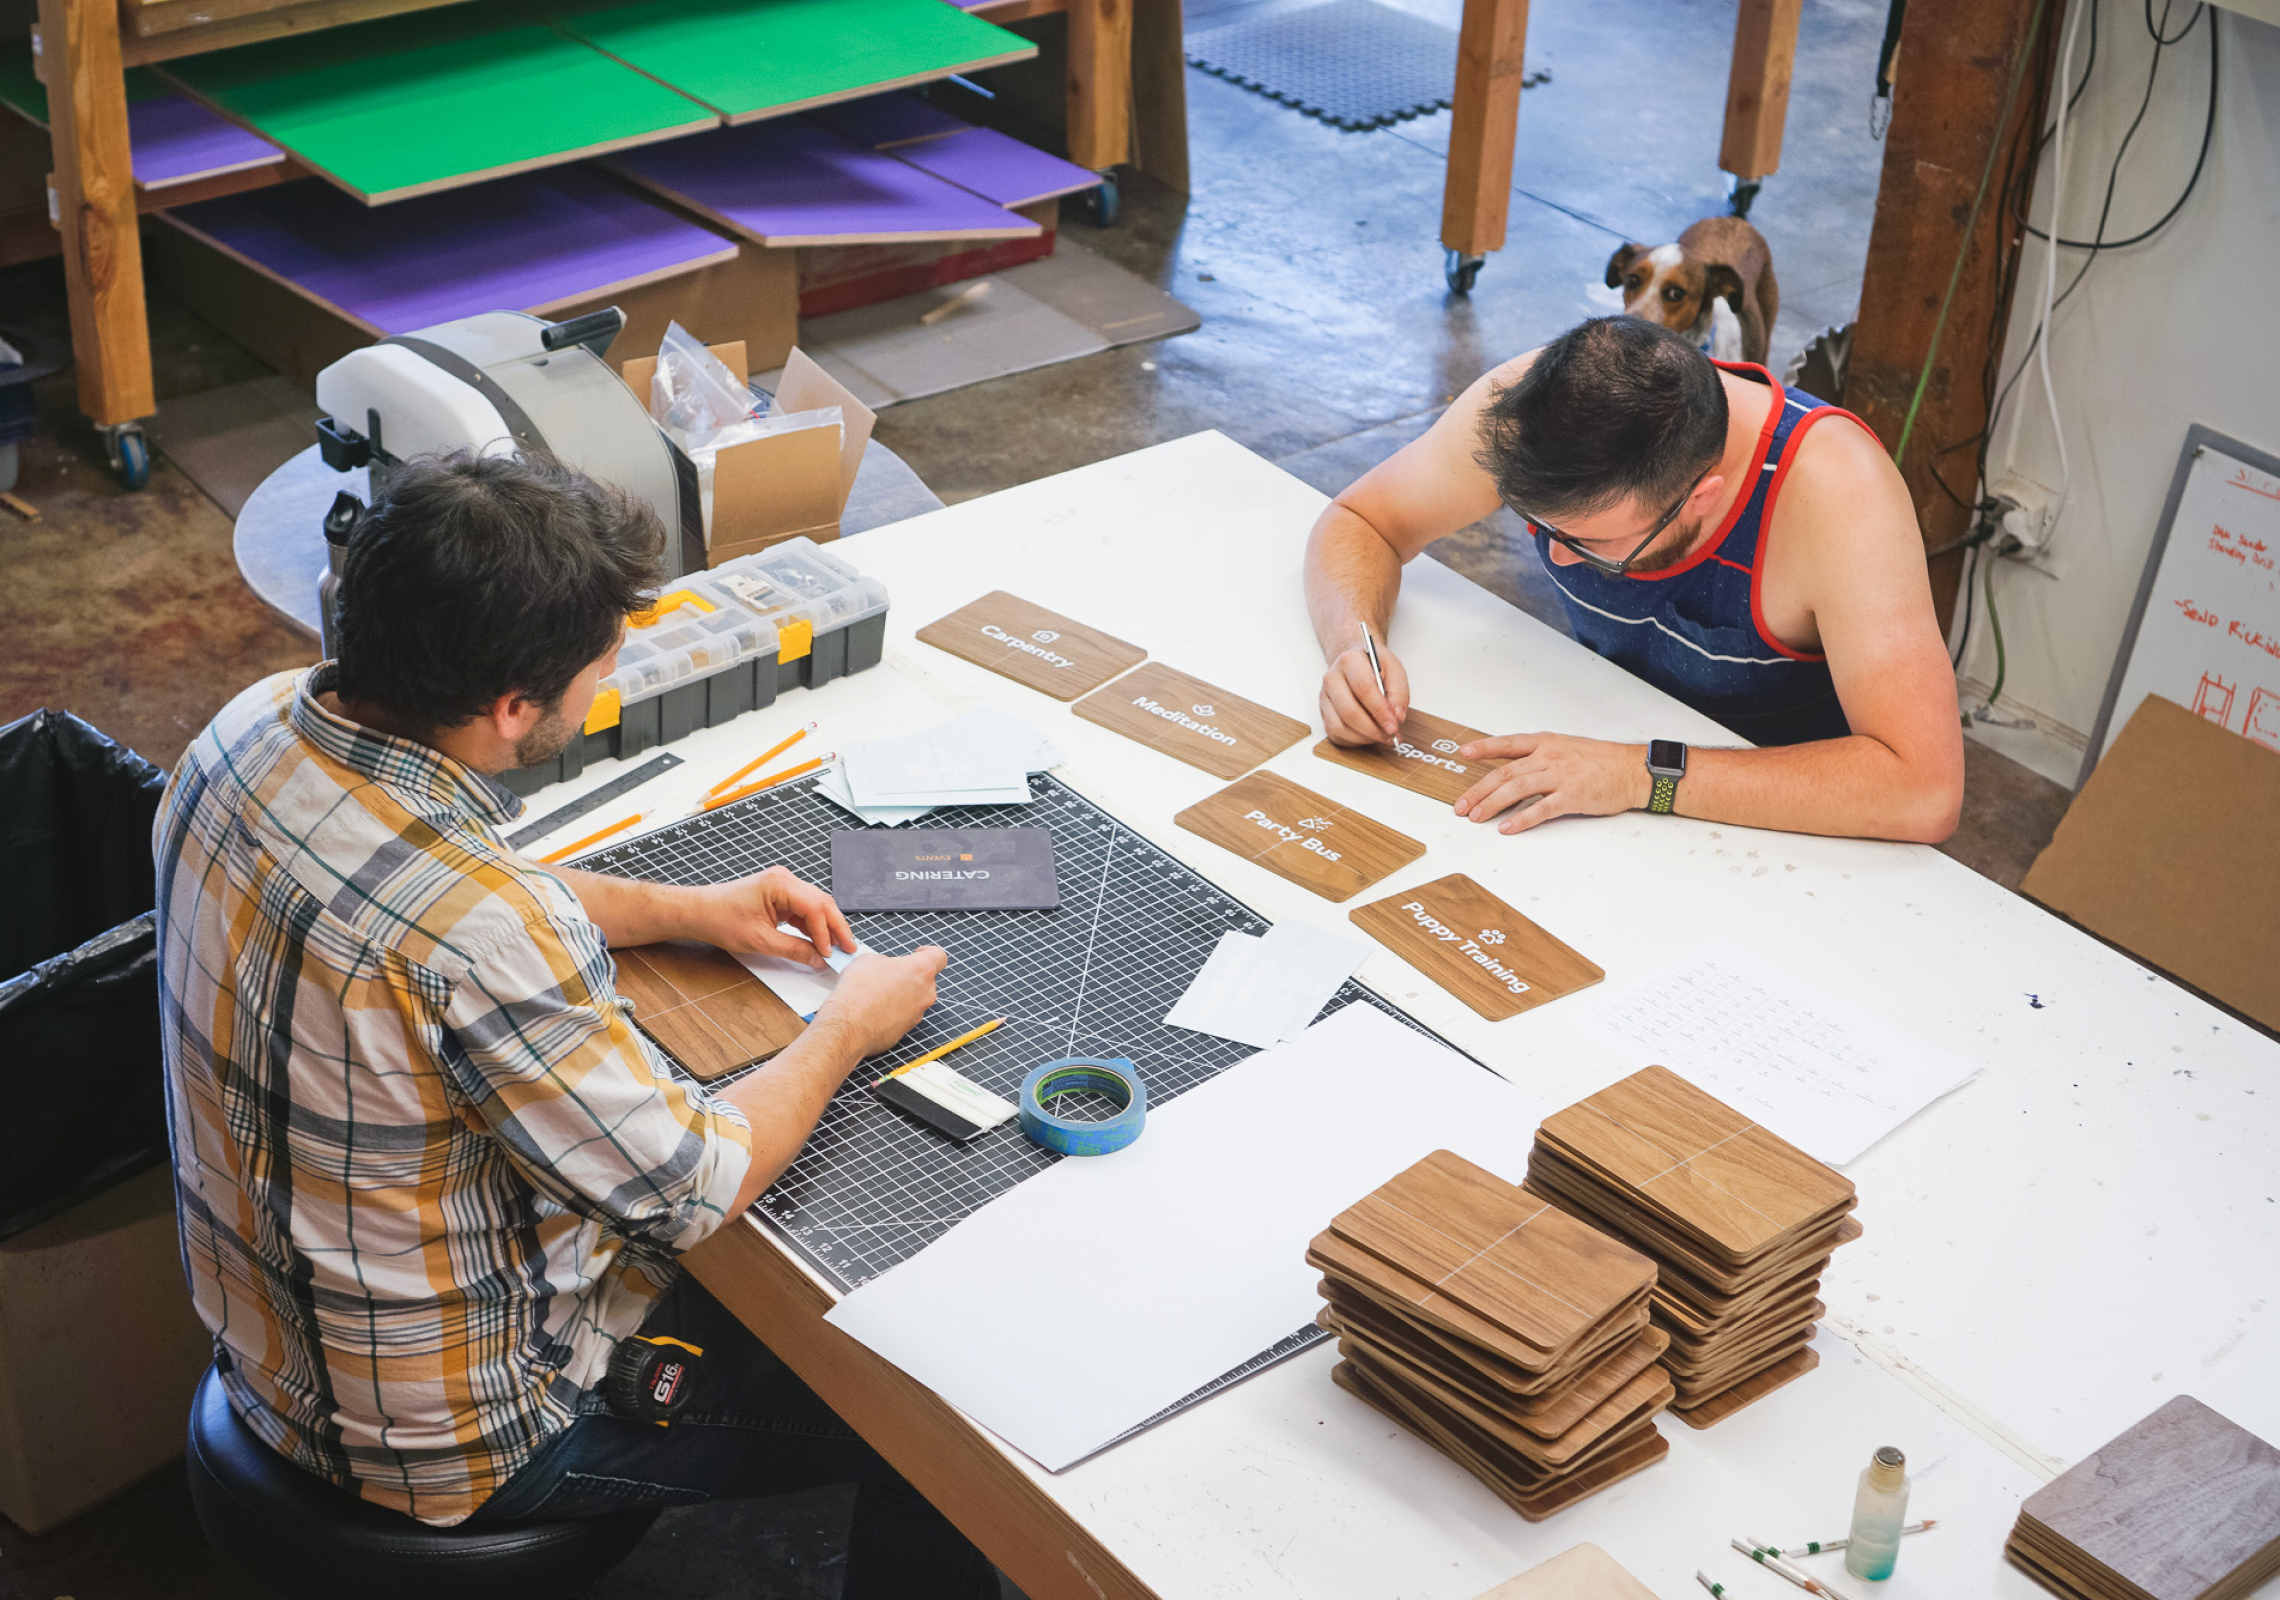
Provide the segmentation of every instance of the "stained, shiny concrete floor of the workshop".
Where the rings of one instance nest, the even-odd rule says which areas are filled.
[[[1190,0],[1192,25],[1297,0]],[[1398,0],[1455,23],[1459,0]],[[1847,321],[1867,251],[1881,148],[1867,84],[1881,0],[1806,9],[1785,169],[1753,221],[1774,246],[1783,315],[1774,365]],[[1439,415],[1484,367],[1610,310],[1607,253],[1658,244],[1721,210],[1715,166],[1733,0],[1537,0],[1530,66],[1553,77],[1521,112],[1512,237],[1471,299],[1441,283],[1439,191],[1448,116],[1350,134],[1204,73],[1188,73],[1195,194],[1133,182],[1117,228],[1072,237],[1204,315],[1181,340],[1117,349],[898,406],[878,435],[944,499],[1220,428],[1336,490]],[[260,376],[260,362],[153,299],[162,397]],[[0,319],[62,333],[52,264],[0,271]],[[71,394],[41,387],[43,435],[25,447],[0,513],[14,602],[0,652],[0,720],[78,711],[171,766],[244,684],[315,647],[237,581],[230,520],[160,460],[141,495],[116,492]],[[1557,622],[1509,517],[1434,552]],[[2066,791],[1968,745],[1963,827],[1945,848],[2016,887],[2066,809]],[[668,1511],[597,1600],[709,1595],[828,1600],[839,1591],[846,1495]],[[0,1523],[0,1600],[221,1600],[242,1586],[198,1538],[178,1470],[43,1536]]]

